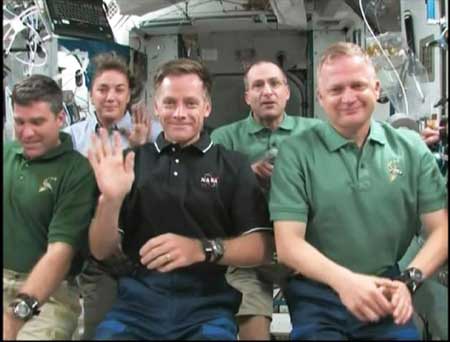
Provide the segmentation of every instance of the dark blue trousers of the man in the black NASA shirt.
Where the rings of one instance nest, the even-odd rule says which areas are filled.
[[[119,279],[97,340],[235,340],[241,294],[224,273],[149,272]]]

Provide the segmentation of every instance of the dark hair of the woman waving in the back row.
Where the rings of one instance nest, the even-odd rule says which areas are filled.
[[[128,80],[128,86],[131,92],[130,105],[139,101],[143,84],[142,82],[138,82],[134,74],[130,71],[124,57],[117,55],[115,52],[104,52],[94,57],[93,64],[94,73],[92,75],[91,89],[95,79],[102,73],[109,70],[115,70],[123,74]]]

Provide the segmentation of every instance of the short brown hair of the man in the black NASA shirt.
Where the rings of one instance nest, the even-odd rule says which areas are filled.
[[[203,88],[205,89],[206,99],[211,101],[211,88],[212,79],[208,69],[200,62],[180,58],[174,59],[161,65],[153,77],[153,86],[155,91],[161,86],[162,81],[171,75],[188,75],[195,74],[203,82]]]

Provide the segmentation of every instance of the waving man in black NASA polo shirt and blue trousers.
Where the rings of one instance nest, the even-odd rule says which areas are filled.
[[[268,210],[247,159],[203,129],[211,78],[178,59],[154,78],[163,132],[123,156],[119,136],[93,137],[88,153],[101,191],[89,243],[97,259],[122,248],[136,265],[97,339],[236,339],[241,294],[228,265],[269,262]]]

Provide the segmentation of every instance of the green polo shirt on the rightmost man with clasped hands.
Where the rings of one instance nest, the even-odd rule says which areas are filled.
[[[420,214],[446,207],[446,186],[417,133],[372,121],[358,149],[323,122],[284,142],[269,207],[274,221],[306,223],[306,240],[331,260],[380,274],[404,255]]]

